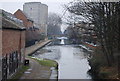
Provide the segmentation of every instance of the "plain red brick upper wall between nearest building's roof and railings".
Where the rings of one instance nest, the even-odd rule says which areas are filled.
[[[25,31],[18,30],[3,30],[2,33],[2,54],[12,53],[19,51],[21,36],[21,48],[25,47]]]

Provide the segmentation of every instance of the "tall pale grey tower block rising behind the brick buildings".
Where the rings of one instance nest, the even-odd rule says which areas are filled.
[[[47,36],[48,6],[41,2],[27,2],[23,5],[23,11],[34,21],[40,33]]]

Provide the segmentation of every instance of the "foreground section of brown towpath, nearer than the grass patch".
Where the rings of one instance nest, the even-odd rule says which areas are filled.
[[[30,68],[25,71],[20,79],[49,79],[50,78],[50,68],[46,66],[41,66],[38,62],[33,59],[30,60]]]

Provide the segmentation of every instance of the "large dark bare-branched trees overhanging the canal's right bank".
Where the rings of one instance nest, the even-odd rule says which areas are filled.
[[[83,16],[95,25],[95,32],[101,44],[108,65],[114,63],[114,49],[120,49],[120,2],[74,2],[67,10]]]

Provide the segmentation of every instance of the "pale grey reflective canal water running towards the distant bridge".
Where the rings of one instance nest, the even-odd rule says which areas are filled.
[[[55,42],[38,50],[33,56],[57,61],[58,79],[91,79],[88,74],[89,54],[84,52],[79,45],[66,45],[64,40]]]

